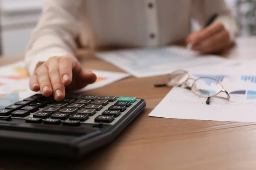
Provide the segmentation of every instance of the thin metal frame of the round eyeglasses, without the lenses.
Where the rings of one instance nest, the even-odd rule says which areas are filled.
[[[198,78],[195,79],[195,78],[193,78],[193,77],[190,76],[190,74],[189,74],[188,71],[185,71],[185,70],[175,70],[175,71],[173,71],[171,74],[173,74],[173,73],[175,73],[175,72],[177,72],[177,71],[183,71],[184,73],[188,74],[188,78],[187,78],[186,80],[184,80],[183,82],[179,83],[178,85],[168,85],[169,83],[167,82],[167,83],[163,83],[163,84],[154,84],[154,86],[155,86],[155,87],[163,87],[163,86],[171,86],[171,87],[177,86],[177,87],[181,87],[182,85],[186,85],[186,82],[187,82],[189,79],[192,79],[193,82],[192,82],[191,87],[189,87],[189,86],[186,86],[186,87],[185,87],[186,89],[189,89],[190,91],[192,91],[191,88],[193,87],[193,85],[194,85],[194,83],[196,82],[196,80],[202,79],[202,78],[213,79],[214,81],[218,82],[218,83],[221,85],[221,90],[220,90],[218,93],[216,93],[216,94],[214,94],[214,95],[212,95],[212,96],[207,96],[207,97],[206,97],[206,96],[198,95],[198,94],[196,94],[194,91],[192,91],[192,93],[195,94],[195,95],[197,95],[197,96],[200,96],[200,97],[203,97],[203,98],[207,98],[207,101],[206,101],[207,105],[209,105],[209,101],[210,101],[210,98],[211,98],[211,97],[217,97],[217,98],[225,99],[225,100],[229,100],[229,99],[230,99],[229,93],[224,89],[223,85],[222,85],[221,82],[219,82],[218,80],[216,80],[216,79],[214,79],[214,78],[212,78],[212,77],[198,77]],[[168,78],[169,75],[171,75],[171,74],[167,74],[167,78]],[[169,82],[170,82],[170,81],[171,81],[171,80],[169,80]],[[224,92],[224,93],[227,95],[227,97],[225,98],[225,97],[222,97],[222,96],[217,96],[217,95],[220,94],[221,92]]]

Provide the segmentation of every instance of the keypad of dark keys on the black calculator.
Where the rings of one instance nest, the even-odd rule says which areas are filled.
[[[123,99],[122,99],[123,100]],[[119,101],[116,96],[68,94],[62,101],[52,96],[34,95],[0,109],[0,118],[12,116],[26,123],[80,126],[114,125],[139,102]]]

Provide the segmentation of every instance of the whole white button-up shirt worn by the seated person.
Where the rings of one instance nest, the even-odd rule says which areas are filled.
[[[76,54],[75,38],[89,47],[153,47],[185,40],[191,17],[203,26],[214,13],[233,37],[235,19],[224,0],[45,0],[25,61]]]

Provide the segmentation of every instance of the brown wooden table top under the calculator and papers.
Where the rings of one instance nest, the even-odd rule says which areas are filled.
[[[250,43],[248,43],[250,42]],[[121,71],[80,51],[84,67]],[[232,54],[232,55],[231,55]],[[256,38],[241,38],[224,56],[256,57]],[[85,57],[86,56],[86,57]],[[1,65],[20,58],[0,59]],[[86,94],[136,96],[146,100],[145,111],[123,133],[84,161],[45,160],[27,156],[1,156],[4,170],[248,170],[256,169],[256,125],[149,117],[170,88],[154,88],[163,77],[129,77]],[[149,91],[149,92],[148,92]],[[1,168],[0,168],[1,169]]]

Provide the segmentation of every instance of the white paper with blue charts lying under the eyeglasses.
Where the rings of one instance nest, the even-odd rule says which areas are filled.
[[[222,83],[230,94],[230,100],[212,97],[210,104],[181,87],[172,88],[149,116],[232,122],[256,122],[256,76],[252,75],[204,75],[192,77],[212,77]],[[212,85],[207,82],[207,85]],[[224,95],[225,96],[225,95]]]

